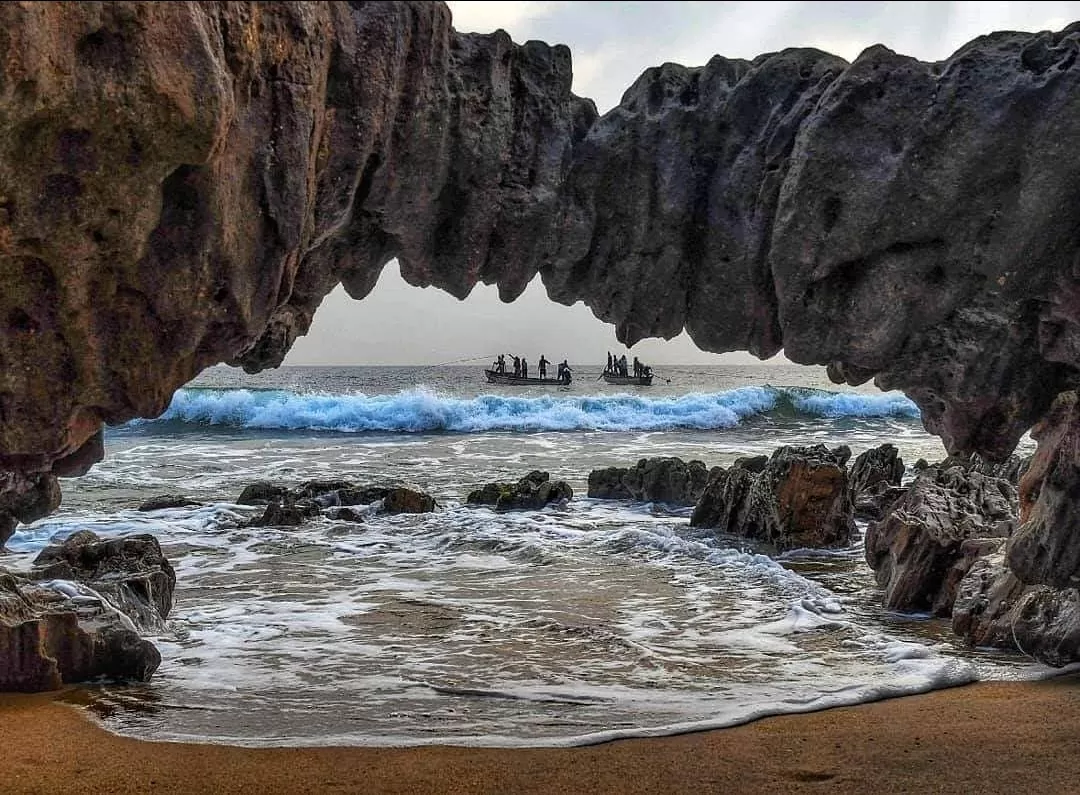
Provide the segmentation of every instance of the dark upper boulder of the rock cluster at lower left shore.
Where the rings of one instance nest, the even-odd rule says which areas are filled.
[[[35,558],[30,577],[83,583],[144,632],[164,626],[176,588],[176,574],[150,535],[102,539],[91,530],[79,530],[45,547]]]

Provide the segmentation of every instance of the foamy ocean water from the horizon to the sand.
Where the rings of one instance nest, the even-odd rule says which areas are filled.
[[[689,527],[690,509],[591,500],[590,470],[648,456],[728,466],[781,444],[895,444],[944,456],[902,394],[821,368],[657,367],[617,388],[494,387],[483,365],[218,367],[154,420],[109,429],[107,458],[21,527],[12,568],[89,527],[151,533],[176,606],[145,685],[81,698],[112,730],[246,745],[573,745],[728,726],[975,679],[1047,675],[966,648],[945,622],[880,608],[861,543],[769,556]],[[566,506],[464,507],[541,469]],[[256,480],[405,482],[424,515],[245,528]],[[190,509],[140,513],[183,493]]]

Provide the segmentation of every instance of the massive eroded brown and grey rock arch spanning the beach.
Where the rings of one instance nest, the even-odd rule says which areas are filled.
[[[876,378],[950,453],[1004,458],[1077,383],[1077,25],[665,64],[603,117],[566,48],[440,3],[13,2],[0,31],[0,539],[103,422],[279,364],[393,257]],[[1034,549],[1010,565],[1056,577]]]

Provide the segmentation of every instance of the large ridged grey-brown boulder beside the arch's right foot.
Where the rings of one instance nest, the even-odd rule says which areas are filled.
[[[948,616],[960,580],[1016,526],[1016,490],[963,467],[923,470],[866,529],[866,562],[891,610]]]

